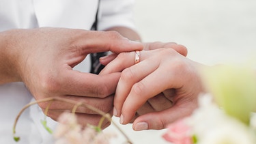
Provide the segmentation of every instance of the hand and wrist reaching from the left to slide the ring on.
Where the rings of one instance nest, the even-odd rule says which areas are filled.
[[[111,29],[109,29],[111,30]],[[132,33],[124,33],[126,35]],[[134,34],[134,33],[133,33]],[[113,93],[120,74],[99,76],[72,70],[89,53],[142,50],[143,45],[116,31],[38,28],[13,29],[0,33],[0,84],[24,82],[35,100],[63,97],[86,102],[105,113],[113,111]],[[44,111],[48,103],[40,103]],[[53,102],[47,115],[57,119],[71,104]],[[79,107],[79,122],[97,125],[100,115]],[[107,121],[103,127],[109,126]]]

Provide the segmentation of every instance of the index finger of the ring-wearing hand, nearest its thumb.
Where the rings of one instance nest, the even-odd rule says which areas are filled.
[[[169,81],[172,81],[172,79],[172,76],[167,76],[166,72],[155,70],[141,81],[134,84],[122,106],[121,123],[128,124],[142,104],[158,93],[168,89],[169,85],[167,84]]]

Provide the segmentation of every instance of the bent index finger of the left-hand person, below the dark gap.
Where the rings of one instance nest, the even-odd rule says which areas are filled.
[[[63,76],[61,90],[64,95],[105,98],[115,93],[120,73],[99,76],[70,70]]]

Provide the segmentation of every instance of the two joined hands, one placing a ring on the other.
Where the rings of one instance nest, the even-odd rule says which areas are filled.
[[[0,84],[22,81],[35,100],[62,97],[85,102],[133,123],[134,130],[162,129],[197,107],[201,81],[187,49],[172,42],[132,42],[115,31],[40,28],[0,34],[3,48]],[[100,74],[73,70],[90,53],[100,58]],[[140,51],[134,64],[135,51]],[[138,58],[138,55],[137,55]],[[45,111],[48,104],[40,103]],[[56,120],[73,105],[53,102],[47,115]],[[79,123],[95,124],[101,115],[79,106]],[[104,121],[103,127],[109,126]]]

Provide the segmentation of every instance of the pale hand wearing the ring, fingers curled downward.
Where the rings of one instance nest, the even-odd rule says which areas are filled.
[[[121,72],[114,99],[114,115],[120,117],[121,124],[128,124],[143,104],[151,102],[158,102],[152,104],[154,111],[137,117],[134,130],[160,130],[197,107],[197,96],[204,91],[199,68],[205,66],[173,49],[180,46],[141,51],[141,61],[135,65],[134,52],[100,59],[107,64],[100,74]],[[159,99],[163,96],[165,99]],[[166,104],[165,109],[158,109]]]

